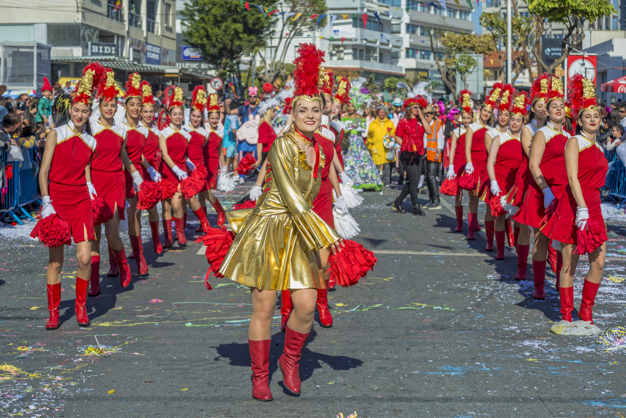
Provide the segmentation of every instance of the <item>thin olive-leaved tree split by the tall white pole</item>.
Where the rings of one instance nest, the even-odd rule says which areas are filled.
[[[515,1],[513,2],[515,3]],[[498,44],[506,45],[506,19],[500,16],[498,12],[486,13],[480,15],[479,22],[483,29],[486,29],[493,35],[493,47],[495,51],[500,51]],[[526,62],[526,56],[524,51],[526,49],[526,41],[530,39],[535,31],[535,26],[531,18],[525,16],[519,16],[515,14],[511,16],[511,56],[513,62],[511,62],[511,68],[513,68],[514,76],[512,82],[515,83],[518,76],[524,67],[528,68],[530,76],[532,77],[532,70],[530,69],[530,62]],[[498,53],[498,61],[500,62],[500,69],[502,71],[502,77],[506,75],[505,60],[502,59],[502,55]]]

